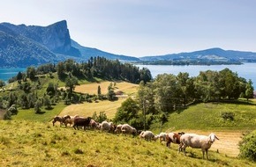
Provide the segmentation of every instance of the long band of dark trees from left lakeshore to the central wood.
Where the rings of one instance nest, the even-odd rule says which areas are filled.
[[[37,68],[31,66],[26,69],[26,75],[32,81],[36,80],[36,76],[48,73],[57,73],[61,80],[72,78],[76,82],[77,79],[86,79],[94,81],[94,78],[102,78],[106,80],[124,80],[133,84],[139,84],[140,81],[149,82],[152,80],[151,72],[147,68],[139,69],[131,63],[122,63],[118,60],[108,60],[104,57],[91,57],[87,62],[75,62],[68,59],[64,62],[46,63]],[[23,79],[25,75],[18,74],[9,79],[9,83]]]

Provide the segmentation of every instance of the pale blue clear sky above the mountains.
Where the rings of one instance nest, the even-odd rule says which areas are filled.
[[[66,20],[80,45],[136,57],[212,47],[256,52],[255,7],[255,0],[8,0],[0,23]]]

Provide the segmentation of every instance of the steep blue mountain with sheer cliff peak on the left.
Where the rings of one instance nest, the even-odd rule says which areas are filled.
[[[135,57],[80,46],[72,40],[65,20],[47,26],[0,24],[0,68],[37,66],[66,59],[86,62],[91,56],[139,61]]]

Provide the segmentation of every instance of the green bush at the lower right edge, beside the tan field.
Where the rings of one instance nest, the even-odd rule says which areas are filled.
[[[243,140],[238,145],[240,149],[239,157],[256,162],[256,130],[245,134]]]

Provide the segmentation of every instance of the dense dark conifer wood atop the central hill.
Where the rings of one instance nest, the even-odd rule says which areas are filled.
[[[63,78],[65,74],[72,73],[77,77],[100,77],[110,80],[124,80],[133,84],[139,84],[142,80],[148,82],[152,79],[149,69],[122,63],[118,60],[111,61],[104,57],[91,57],[87,62],[77,63],[73,60],[59,62],[56,66],[57,74]]]

